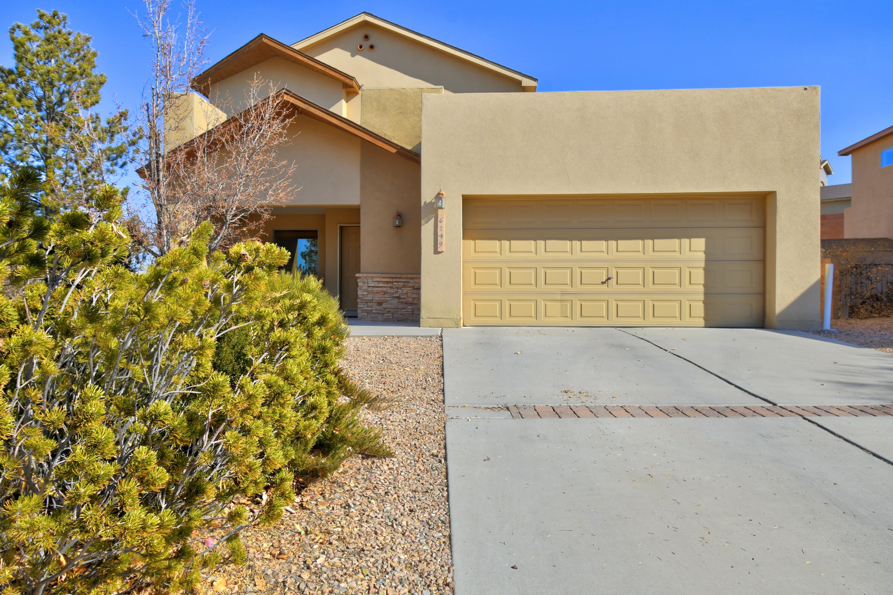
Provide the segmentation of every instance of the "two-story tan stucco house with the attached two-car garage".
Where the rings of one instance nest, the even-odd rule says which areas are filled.
[[[535,93],[368,13],[255,37],[195,87],[256,71],[300,114],[265,233],[360,318],[818,324],[818,87]]]

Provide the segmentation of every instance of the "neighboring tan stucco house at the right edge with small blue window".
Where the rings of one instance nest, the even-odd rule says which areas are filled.
[[[839,151],[853,158],[844,237],[893,238],[893,126]]]

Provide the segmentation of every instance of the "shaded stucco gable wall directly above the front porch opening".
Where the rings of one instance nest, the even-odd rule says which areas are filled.
[[[293,204],[359,204],[364,141],[306,116],[298,116],[288,134],[292,142],[283,147],[280,159],[296,164]]]

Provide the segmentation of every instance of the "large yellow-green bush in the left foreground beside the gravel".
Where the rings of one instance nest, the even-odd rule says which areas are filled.
[[[48,223],[37,184],[26,170],[0,194],[4,594],[188,589],[244,558],[239,531],[278,518],[296,474],[387,454],[338,368],[337,305],[280,275],[288,252],[209,254],[205,224],[135,273],[113,188]],[[264,490],[254,514],[233,504]],[[221,540],[196,546],[209,527]]]

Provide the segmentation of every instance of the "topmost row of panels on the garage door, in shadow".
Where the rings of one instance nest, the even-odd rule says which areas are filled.
[[[762,198],[470,199],[465,229],[513,227],[764,227]]]

